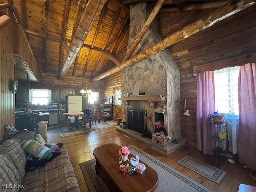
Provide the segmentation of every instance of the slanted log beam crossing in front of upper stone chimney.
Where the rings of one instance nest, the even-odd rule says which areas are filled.
[[[141,28],[140,32],[137,34],[137,36],[134,39],[134,42],[132,43],[132,45],[130,46],[128,52],[126,53],[126,56],[124,57],[124,61],[127,60],[128,58],[130,58],[130,56],[132,55],[132,53],[134,52],[134,50],[138,46],[140,40],[142,39],[142,37],[144,36],[146,31],[150,27],[150,24],[153,22],[154,18],[158,14],[158,12],[159,12],[160,8],[162,7],[163,3],[164,3],[164,1],[162,1],[162,0],[159,0],[156,3],[156,6],[154,7],[152,12],[148,16],[148,19],[146,20],[144,26]]]

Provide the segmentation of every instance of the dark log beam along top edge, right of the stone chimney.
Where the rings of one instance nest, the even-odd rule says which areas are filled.
[[[225,4],[227,4],[228,1],[214,1],[214,2],[199,2],[199,3],[194,3],[194,4],[185,4],[183,6],[182,11],[193,11],[193,10],[204,10],[204,9],[214,9],[214,8],[220,8],[222,6],[224,6]],[[160,13],[164,13],[164,12],[180,12],[180,8],[176,8],[176,7],[166,7],[166,8],[162,8],[160,11]]]

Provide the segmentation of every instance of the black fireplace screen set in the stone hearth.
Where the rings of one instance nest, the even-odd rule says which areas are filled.
[[[128,109],[126,128],[144,134],[144,113],[143,110]]]

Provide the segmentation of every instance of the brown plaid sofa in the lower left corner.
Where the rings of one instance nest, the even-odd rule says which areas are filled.
[[[32,131],[10,136],[0,147],[1,192],[79,192],[78,183],[68,150],[60,148],[61,154],[44,166],[25,171],[28,154],[22,149],[22,141],[36,140]]]

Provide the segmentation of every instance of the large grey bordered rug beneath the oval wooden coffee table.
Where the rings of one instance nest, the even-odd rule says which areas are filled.
[[[140,160],[156,170],[159,179],[159,184],[155,190],[156,192],[212,192],[212,190],[206,186],[192,180],[188,176],[164,164],[136,146],[132,145],[128,146],[128,148],[133,155],[138,155]],[[79,164],[88,190],[90,192],[108,192],[108,187],[104,184],[102,178],[95,172],[95,161],[95,159],[92,159]],[[118,160],[116,162],[118,167]]]

